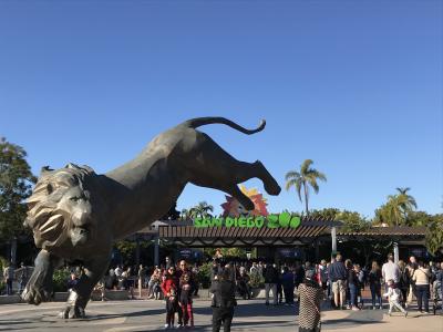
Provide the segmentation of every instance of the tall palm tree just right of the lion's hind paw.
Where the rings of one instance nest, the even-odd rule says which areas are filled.
[[[296,187],[298,198],[301,200],[301,187],[303,188],[306,215],[309,215],[308,200],[309,200],[309,186],[318,194],[319,185],[317,179],[326,181],[326,175],[310,166],[313,164],[311,159],[306,159],[300,166],[300,172],[290,170],[286,174],[286,190]]]

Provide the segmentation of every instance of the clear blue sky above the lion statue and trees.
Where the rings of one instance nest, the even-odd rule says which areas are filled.
[[[442,2],[0,1],[0,135],[34,173],[107,172],[179,122],[261,159],[281,186],[306,158],[328,183],[312,208],[372,217],[395,187],[442,211]],[[248,187],[262,190],[258,180]],[[178,208],[220,191],[186,187]],[[296,193],[269,210],[301,210]]]

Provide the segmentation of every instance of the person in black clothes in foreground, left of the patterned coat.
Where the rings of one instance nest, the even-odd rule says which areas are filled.
[[[213,293],[213,332],[219,332],[223,323],[223,331],[230,332],[230,324],[234,318],[235,283],[230,278],[231,272],[225,268],[214,280],[209,292]]]

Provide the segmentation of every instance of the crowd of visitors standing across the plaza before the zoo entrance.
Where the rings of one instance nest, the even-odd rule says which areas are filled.
[[[147,269],[142,264],[135,268],[117,266],[111,269],[99,283],[103,290],[128,290],[133,297],[134,288],[147,289],[147,299],[165,301],[165,329],[193,328],[193,298],[198,295],[200,283],[197,264],[188,266],[185,260],[174,264],[167,257],[161,267]],[[73,289],[81,271],[71,271],[66,288]],[[13,270],[7,267],[3,278],[7,293],[12,292],[12,279],[19,276],[21,290],[28,280],[28,269],[22,264]],[[213,331],[230,331],[236,295],[250,299],[254,289],[265,288],[265,304],[293,307],[298,303],[299,331],[316,331],[320,324],[320,303],[337,310],[360,311],[385,308],[391,315],[394,310],[405,317],[411,303],[416,300],[418,311],[430,312],[430,299],[442,299],[443,262],[425,263],[410,257],[408,262],[394,262],[393,255],[380,267],[373,261],[368,267],[353,263],[336,255],[330,261],[319,263],[295,262],[278,266],[272,261],[235,261],[214,258],[210,267],[210,289],[213,307]],[[101,286],[101,287],[100,287]],[[363,297],[369,289],[370,299]],[[442,308],[443,309],[443,308]],[[177,319],[175,323],[175,319]]]

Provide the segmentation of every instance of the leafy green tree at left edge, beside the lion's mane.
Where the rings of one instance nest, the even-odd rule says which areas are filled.
[[[11,240],[24,231],[24,200],[37,181],[25,157],[21,146],[0,138],[0,241]]]

